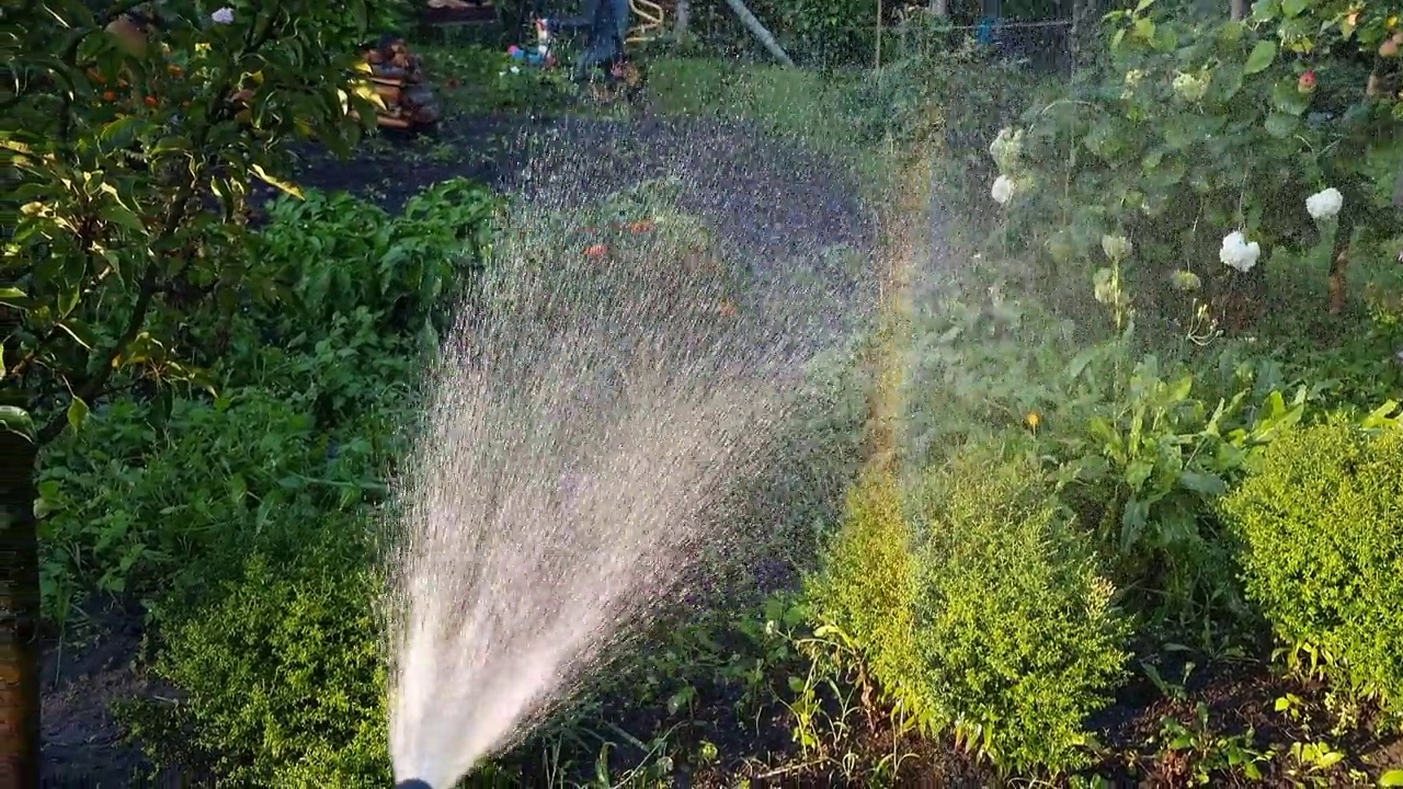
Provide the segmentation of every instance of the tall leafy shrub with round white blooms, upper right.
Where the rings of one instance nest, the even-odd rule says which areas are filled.
[[[1099,286],[1237,300],[1263,263],[1330,256],[1338,309],[1351,248],[1403,230],[1399,20],[1376,1],[1266,0],[1204,24],[1143,0],[1107,32],[1106,80],[989,146],[1007,241],[1055,271],[1101,268]]]

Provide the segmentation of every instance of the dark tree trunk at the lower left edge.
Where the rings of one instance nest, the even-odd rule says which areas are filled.
[[[38,451],[0,430],[0,786],[39,786]]]

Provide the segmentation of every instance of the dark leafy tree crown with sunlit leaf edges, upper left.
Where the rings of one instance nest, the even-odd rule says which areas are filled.
[[[0,150],[20,206],[0,380],[45,444],[133,378],[208,386],[173,330],[195,303],[265,289],[236,253],[250,184],[295,192],[275,175],[286,143],[347,153],[373,104],[363,3],[27,8],[0,45],[17,88]]]

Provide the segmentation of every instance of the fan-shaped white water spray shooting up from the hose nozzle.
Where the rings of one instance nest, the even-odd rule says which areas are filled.
[[[765,473],[808,362],[846,337],[822,277],[738,292],[676,233],[615,256],[550,220],[556,237],[519,240],[542,234],[529,206],[509,222],[525,226],[442,348],[396,486],[396,789],[452,786],[519,743],[699,564],[744,555],[734,490]]]

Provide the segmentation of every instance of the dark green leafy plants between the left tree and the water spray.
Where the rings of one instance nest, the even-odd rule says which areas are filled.
[[[290,548],[299,521],[383,494],[417,359],[480,274],[495,205],[464,181],[396,218],[321,192],[275,204],[247,256],[282,296],[194,307],[198,327],[167,333],[209,365],[219,396],[112,397],[46,449],[49,616],[66,621],[94,591],[198,588],[250,546]]]

